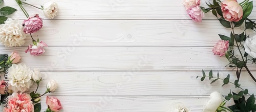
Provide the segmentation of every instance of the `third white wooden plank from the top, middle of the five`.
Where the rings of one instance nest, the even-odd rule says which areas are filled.
[[[27,47],[0,47],[1,53],[17,51],[22,62],[46,71],[201,71],[233,70],[212,47],[48,47],[31,57]],[[255,65],[249,64],[251,71]]]

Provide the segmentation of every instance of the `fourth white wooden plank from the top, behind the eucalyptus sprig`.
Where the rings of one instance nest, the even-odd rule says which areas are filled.
[[[202,72],[42,72],[44,81],[41,82],[38,92],[46,91],[49,79],[58,82],[55,96],[207,96],[212,91],[227,95],[229,89],[240,92],[234,85],[224,85],[219,80],[214,84],[208,78],[201,82]],[[208,72],[206,72],[208,73]],[[255,74],[256,72],[252,72]],[[230,81],[236,80],[235,72],[220,72],[225,78],[230,74]],[[217,76],[217,72],[214,72]],[[243,72],[239,82],[242,88],[249,89],[255,94],[255,82]],[[35,91],[36,84],[31,87]]]

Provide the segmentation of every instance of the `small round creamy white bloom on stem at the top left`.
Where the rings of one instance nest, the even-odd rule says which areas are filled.
[[[44,5],[44,14],[48,18],[54,18],[58,14],[58,5],[55,2],[48,2]]]

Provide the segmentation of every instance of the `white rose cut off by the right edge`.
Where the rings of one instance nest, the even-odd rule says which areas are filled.
[[[244,49],[248,55],[256,58],[256,35],[245,40]]]

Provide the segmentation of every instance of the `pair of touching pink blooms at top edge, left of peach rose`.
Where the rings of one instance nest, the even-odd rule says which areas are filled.
[[[200,0],[184,0],[183,5],[186,8],[187,14],[196,22],[201,22],[204,13],[200,8]]]

